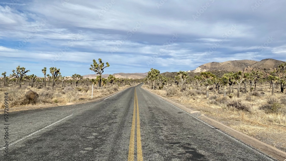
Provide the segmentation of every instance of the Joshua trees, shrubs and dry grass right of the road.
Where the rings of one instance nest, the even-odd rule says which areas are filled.
[[[261,141],[278,137],[278,141],[268,140],[267,144],[286,151],[286,141],[279,139],[286,137],[285,65],[268,70],[245,68],[226,72],[221,77],[211,72],[189,77],[180,71],[174,78],[166,77],[166,85],[160,89],[156,89],[159,76],[153,74],[144,78],[143,88],[201,111]],[[157,86],[152,86],[152,81]]]

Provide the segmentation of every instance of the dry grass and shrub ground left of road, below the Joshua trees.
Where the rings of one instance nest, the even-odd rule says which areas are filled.
[[[123,90],[130,87],[126,86],[105,86],[98,88],[94,86],[93,99],[107,96],[118,90]],[[66,86],[56,87],[54,90],[51,87],[46,88],[30,88],[26,85],[22,88],[16,86],[0,87],[0,97],[4,98],[4,92],[9,93],[9,107],[41,105],[41,104],[58,104],[65,105],[68,102],[78,102],[93,100],[91,98],[92,86]],[[4,100],[0,102],[0,108],[4,108]]]

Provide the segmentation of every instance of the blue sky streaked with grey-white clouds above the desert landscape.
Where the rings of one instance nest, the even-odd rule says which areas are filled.
[[[286,61],[285,0],[1,0],[0,72],[41,76],[192,70],[208,62]]]

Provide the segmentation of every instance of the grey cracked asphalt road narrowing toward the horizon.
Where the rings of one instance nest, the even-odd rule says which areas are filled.
[[[9,124],[0,160],[273,160],[140,85],[100,102],[12,112]]]

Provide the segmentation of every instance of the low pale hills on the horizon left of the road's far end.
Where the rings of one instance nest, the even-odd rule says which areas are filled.
[[[96,78],[96,76],[99,74],[89,74],[89,75],[83,75],[84,78]],[[114,73],[112,74],[116,78],[130,78],[130,79],[143,79],[146,77],[147,73]],[[107,78],[109,74],[102,74],[103,78]]]

